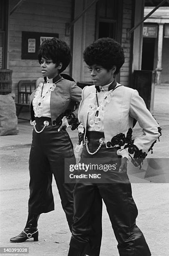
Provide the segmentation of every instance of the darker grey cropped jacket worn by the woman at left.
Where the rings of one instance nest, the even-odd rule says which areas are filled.
[[[36,87],[40,83],[44,82],[44,78],[37,79]],[[35,120],[32,100],[35,96],[35,91],[30,95],[30,115],[31,120]],[[65,110],[73,110],[75,102],[80,103],[81,101],[82,89],[77,86],[75,82],[69,81],[64,78],[60,78],[56,83],[56,88],[51,92],[50,96],[50,113],[52,119],[52,125],[56,125],[56,118],[65,112]],[[78,108],[73,111],[74,115],[77,117]]]

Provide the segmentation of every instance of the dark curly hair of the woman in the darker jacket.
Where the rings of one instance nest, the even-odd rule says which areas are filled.
[[[39,63],[41,59],[51,59],[53,63],[56,64],[56,67],[59,63],[62,63],[62,68],[59,72],[63,72],[67,66],[70,64],[71,53],[69,46],[65,41],[60,40],[59,38],[47,39],[42,42],[38,51],[38,60]]]

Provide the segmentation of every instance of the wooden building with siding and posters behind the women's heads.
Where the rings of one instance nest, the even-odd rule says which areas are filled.
[[[144,18],[144,0],[1,0],[0,5],[0,68],[12,70],[16,96],[20,80],[41,76],[37,48],[47,37],[70,46],[72,62],[65,73],[77,82],[90,81],[82,52],[100,37],[112,37],[124,48],[120,83],[130,87],[134,69],[141,69],[143,22],[130,30]]]

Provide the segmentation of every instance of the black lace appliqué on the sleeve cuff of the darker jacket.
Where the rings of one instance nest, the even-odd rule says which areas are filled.
[[[57,118],[56,118],[56,124],[61,124],[62,123],[62,118],[63,117],[67,118],[67,121],[69,123],[69,125],[72,126],[71,130],[75,130],[78,125],[79,125],[79,121],[78,119],[75,117],[74,113],[72,113],[72,110],[67,109],[64,113],[60,114]]]

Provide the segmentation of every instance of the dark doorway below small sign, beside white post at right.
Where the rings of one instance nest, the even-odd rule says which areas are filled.
[[[154,69],[155,38],[143,38],[142,46],[142,70]]]

